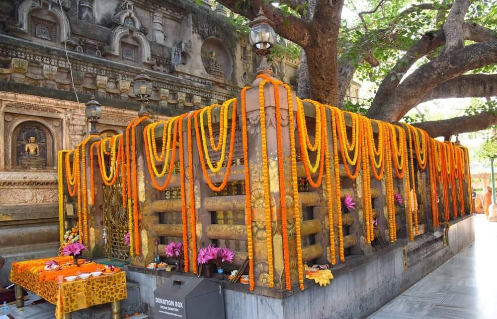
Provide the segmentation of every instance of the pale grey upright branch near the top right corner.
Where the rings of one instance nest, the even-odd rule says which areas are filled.
[[[463,43],[463,22],[466,12],[471,4],[471,0],[455,0],[449,15],[443,24],[446,45],[445,53],[462,48]]]

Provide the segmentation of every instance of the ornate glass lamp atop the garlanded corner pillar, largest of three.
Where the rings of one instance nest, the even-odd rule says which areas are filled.
[[[267,55],[269,55],[270,49],[276,42],[276,33],[274,33],[273,29],[274,23],[264,15],[262,7],[259,7],[257,16],[250,21],[248,25],[250,26],[248,40],[254,47],[255,53],[261,58],[259,67],[257,68],[257,74],[271,76],[272,69],[271,66],[267,64]]]

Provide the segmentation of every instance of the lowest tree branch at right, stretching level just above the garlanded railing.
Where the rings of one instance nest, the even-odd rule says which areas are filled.
[[[414,123],[413,126],[424,129],[430,137],[437,137],[475,132],[496,124],[496,114],[484,111],[477,115],[460,116],[448,120]]]

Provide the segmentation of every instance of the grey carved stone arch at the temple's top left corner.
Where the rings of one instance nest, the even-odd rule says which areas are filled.
[[[44,5],[48,6],[48,13],[52,14],[57,20],[57,26],[60,29],[60,42],[71,41],[71,25],[65,12],[58,5],[54,5],[46,0],[25,0],[17,7],[17,20],[11,25],[12,29],[22,33],[28,33],[28,18],[29,13],[33,9],[43,9]],[[65,30],[65,32],[64,32]]]

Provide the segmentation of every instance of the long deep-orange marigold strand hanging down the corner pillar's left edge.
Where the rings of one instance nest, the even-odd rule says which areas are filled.
[[[253,243],[252,243],[252,207],[250,203],[250,174],[248,168],[248,131],[247,131],[247,110],[245,92],[249,87],[245,87],[241,92],[241,118],[242,118],[242,141],[244,148],[244,174],[245,174],[245,218],[247,225],[247,250],[248,250],[248,282],[250,290],[253,290],[255,281],[253,278]]]

